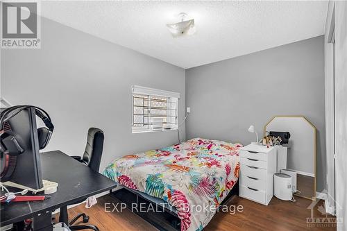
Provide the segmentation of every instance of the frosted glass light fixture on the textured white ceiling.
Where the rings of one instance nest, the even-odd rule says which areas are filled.
[[[183,35],[192,35],[195,33],[194,19],[187,19],[188,15],[185,12],[178,14],[180,22],[175,24],[167,24],[167,28],[171,32],[172,36],[179,37]]]

